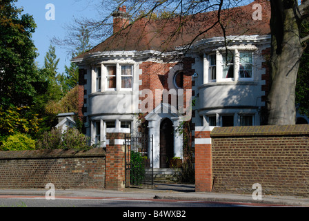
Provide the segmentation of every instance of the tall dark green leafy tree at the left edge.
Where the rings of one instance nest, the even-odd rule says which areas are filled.
[[[0,104],[30,106],[42,83],[31,39],[37,26],[31,15],[21,15],[16,1],[0,1]]]

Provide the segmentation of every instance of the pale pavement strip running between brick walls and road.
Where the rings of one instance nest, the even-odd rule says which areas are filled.
[[[0,198],[5,196],[45,196],[48,189],[0,189]],[[196,193],[194,184],[155,184],[153,189],[129,188],[124,191],[106,189],[56,189],[56,198],[123,198],[193,200],[203,202],[229,202],[235,204],[263,204],[263,206],[309,207],[309,198],[301,196],[262,195],[254,200],[252,195],[235,193]]]

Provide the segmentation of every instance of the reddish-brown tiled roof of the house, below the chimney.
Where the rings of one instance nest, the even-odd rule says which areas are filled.
[[[261,5],[262,20],[252,18],[257,10],[252,7],[255,3]],[[217,11],[213,11],[186,18],[181,17],[181,19],[180,17],[161,20],[140,19],[76,58],[104,51],[157,50],[167,52],[179,46],[187,46],[192,41],[223,37],[223,30],[219,23],[208,30],[217,21],[217,14]],[[183,22],[183,26],[175,34],[180,21]],[[225,28],[226,36],[269,35],[270,3],[268,0],[257,0],[247,6],[222,10],[221,23]],[[208,31],[204,33],[205,30]]]

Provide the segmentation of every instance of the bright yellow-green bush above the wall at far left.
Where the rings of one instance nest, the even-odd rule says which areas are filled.
[[[35,149],[35,141],[26,134],[15,133],[8,136],[0,146],[0,151],[28,151]]]

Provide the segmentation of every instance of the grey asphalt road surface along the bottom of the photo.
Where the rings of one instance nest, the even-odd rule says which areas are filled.
[[[192,200],[130,199],[56,197],[46,200],[43,196],[0,196],[0,207],[104,207],[104,208],[201,208],[201,207],[252,207],[266,204],[232,202],[205,202]]]

